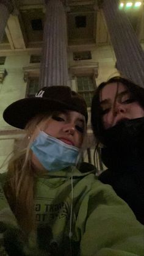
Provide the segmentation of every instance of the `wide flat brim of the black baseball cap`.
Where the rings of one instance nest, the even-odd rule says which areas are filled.
[[[3,113],[5,122],[16,128],[24,129],[27,122],[35,115],[49,111],[62,111],[64,109],[73,109],[68,104],[61,101],[50,100],[48,98],[24,98],[10,104]]]

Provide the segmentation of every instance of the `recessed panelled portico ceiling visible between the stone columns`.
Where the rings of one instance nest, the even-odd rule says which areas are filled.
[[[16,15],[10,15],[0,54],[15,51],[41,51],[45,23],[45,0],[13,0]],[[103,11],[96,8],[96,0],[62,0],[67,12],[68,47],[110,45]],[[83,16],[84,24],[76,26],[76,17]],[[144,42],[142,13],[128,13],[140,42]],[[34,28],[36,26],[36,29]],[[37,29],[39,27],[39,29]]]

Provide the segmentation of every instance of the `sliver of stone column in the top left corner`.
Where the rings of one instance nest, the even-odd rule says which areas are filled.
[[[10,13],[13,11],[12,1],[0,0],[0,43],[4,36],[5,26],[9,19]]]

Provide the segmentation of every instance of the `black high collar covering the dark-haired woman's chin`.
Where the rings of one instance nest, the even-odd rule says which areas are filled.
[[[103,131],[102,160],[107,167],[129,166],[143,159],[144,117],[123,120]]]

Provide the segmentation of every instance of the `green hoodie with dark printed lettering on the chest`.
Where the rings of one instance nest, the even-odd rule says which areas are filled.
[[[35,179],[36,241],[32,234],[26,239],[16,224],[2,190],[4,180],[2,174],[1,256],[144,255],[143,225],[92,171],[69,167]]]

